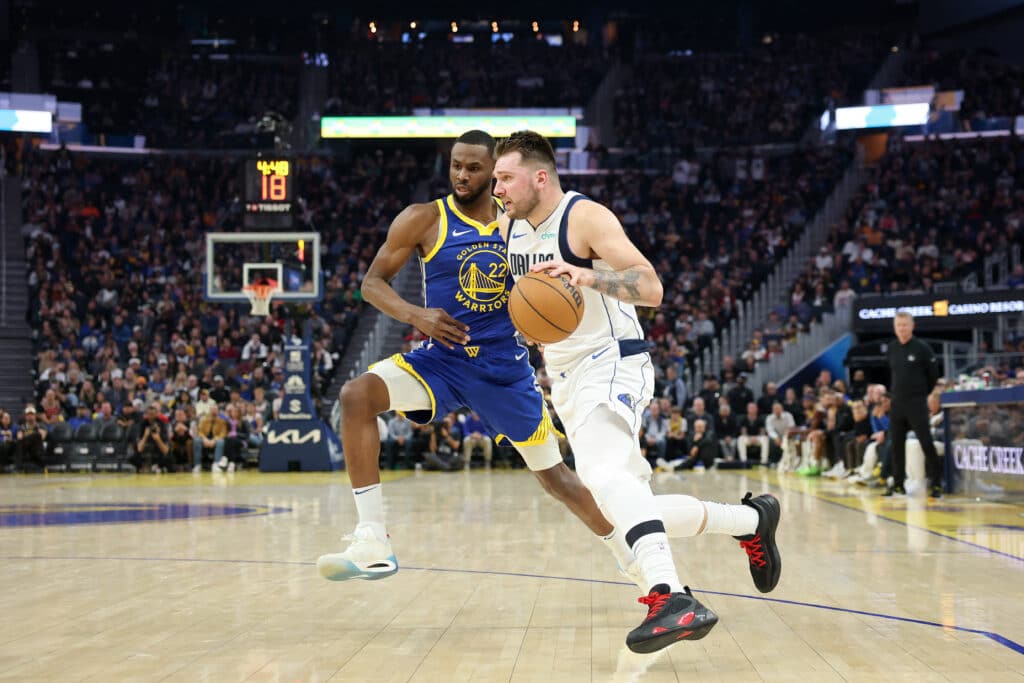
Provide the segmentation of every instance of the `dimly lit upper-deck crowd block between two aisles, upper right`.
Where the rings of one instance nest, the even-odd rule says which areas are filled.
[[[860,103],[888,48],[861,33],[773,35],[742,52],[638,51],[615,97],[615,144],[796,141],[829,103]]]

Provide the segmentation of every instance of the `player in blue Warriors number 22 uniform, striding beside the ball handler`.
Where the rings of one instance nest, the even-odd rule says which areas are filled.
[[[377,415],[389,410],[419,423],[461,407],[476,411],[490,435],[508,438],[543,487],[605,541],[621,568],[633,561],[622,535],[562,462],[527,349],[516,341],[505,310],[511,279],[498,232],[499,204],[490,195],[494,150],[495,139],[483,131],[459,137],[452,147],[452,194],[399,213],[362,281],[366,301],[429,341],[342,387],[341,439],[358,524],[347,549],[318,559],[326,579],[383,579],[398,570],[379,469]],[[422,262],[426,306],[406,301],[388,284],[414,252]]]

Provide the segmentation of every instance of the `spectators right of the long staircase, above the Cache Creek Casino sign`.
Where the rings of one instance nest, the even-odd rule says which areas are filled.
[[[981,273],[1024,243],[1024,144],[1016,137],[893,137],[828,242],[791,288],[802,319],[849,310],[860,294],[926,293]],[[1024,286],[1024,272],[1008,283]]]

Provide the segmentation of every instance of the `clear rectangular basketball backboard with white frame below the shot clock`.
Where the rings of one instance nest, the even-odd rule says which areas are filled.
[[[275,301],[323,297],[318,232],[208,232],[204,296],[246,302],[244,287],[272,281]]]

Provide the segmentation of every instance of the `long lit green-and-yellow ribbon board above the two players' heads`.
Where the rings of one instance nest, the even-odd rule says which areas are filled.
[[[484,130],[504,137],[517,130],[532,130],[545,137],[575,137],[570,116],[342,116],[321,119],[325,138],[458,137],[467,130]]]

